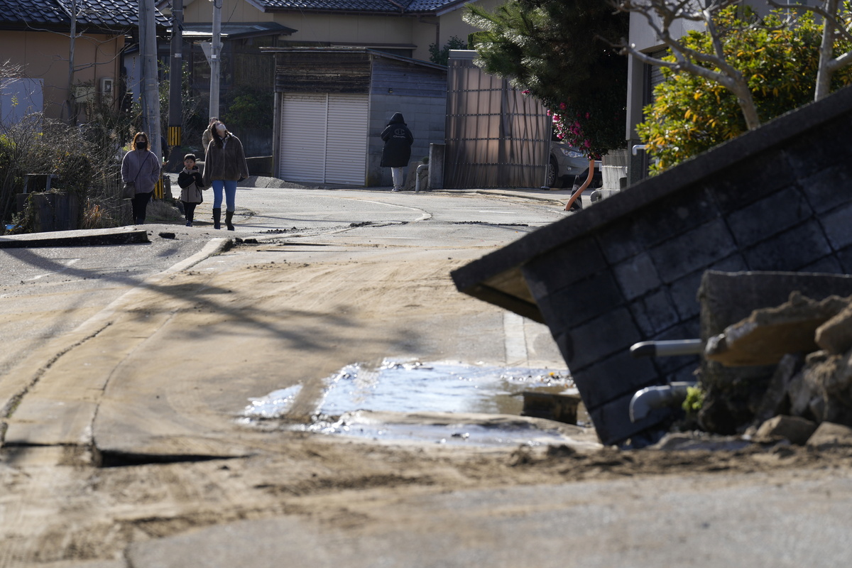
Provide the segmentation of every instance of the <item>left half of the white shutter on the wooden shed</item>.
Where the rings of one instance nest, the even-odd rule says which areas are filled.
[[[325,181],[327,95],[285,94],[281,112],[279,177],[286,181]]]

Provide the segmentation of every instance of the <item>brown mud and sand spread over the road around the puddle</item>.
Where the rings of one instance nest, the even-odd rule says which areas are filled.
[[[182,565],[146,547],[285,517],[354,536],[425,534],[434,519],[423,502],[455,491],[643,479],[663,495],[665,479],[785,484],[852,466],[843,449],[619,451],[596,447],[590,428],[535,420],[566,441],[447,445],[293,428],[316,418],[322,379],[356,362],[559,366],[546,328],[521,324],[523,349],[509,349],[502,310],[454,289],[452,269],[488,250],[251,244],[134,290],[83,336],[55,342],[49,363],[14,370],[27,390],[3,418],[0,566]],[[240,420],[250,399],[296,385],[285,416]],[[452,516],[441,523],[467,530]]]

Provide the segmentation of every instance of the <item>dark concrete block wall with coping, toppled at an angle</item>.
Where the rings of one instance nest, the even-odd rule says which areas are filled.
[[[453,278],[466,293],[540,314],[600,438],[623,441],[669,414],[631,423],[632,395],[687,379],[698,366],[696,357],[632,359],[629,347],[699,337],[696,293],[705,271],[852,273],[849,132],[852,89],[843,89]]]

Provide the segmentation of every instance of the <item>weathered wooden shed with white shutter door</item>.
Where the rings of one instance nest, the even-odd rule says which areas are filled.
[[[394,112],[412,160],[444,143],[446,67],[364,48],[268,48],[275,57],[275,174],[287,181],[389,186],[379,138]]]

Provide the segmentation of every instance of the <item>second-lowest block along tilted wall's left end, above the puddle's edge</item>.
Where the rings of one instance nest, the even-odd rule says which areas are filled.
[[[585,370],[572,372],[587,410],[596,409],[625,394],[663,384],[651,359],[634,359],[625,349]]]

